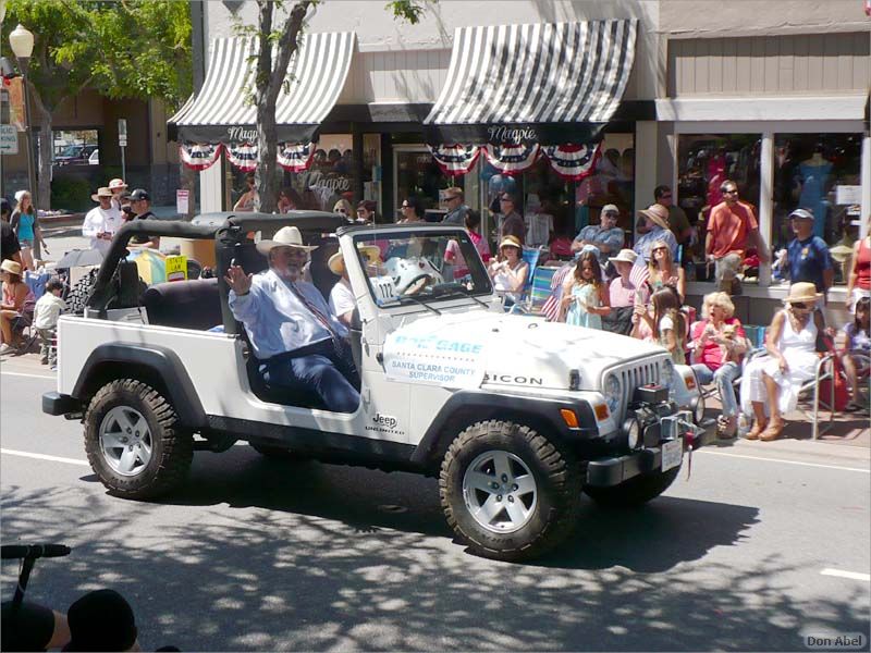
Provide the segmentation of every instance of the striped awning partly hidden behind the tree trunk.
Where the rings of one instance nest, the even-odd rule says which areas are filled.
[[[280,143],[309,143],[335,104],[351,69],[353,32],[306,34],[287,66],[287,89],[279,94],[275,123]],[[257,39],[216,38],[206,81],[169,121],[181,143],[256,140],[254,91]]]

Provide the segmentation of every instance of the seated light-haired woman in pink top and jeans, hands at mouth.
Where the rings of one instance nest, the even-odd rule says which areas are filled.
[[[726,293],[710,293],[702,303],[702,319],[689,329],[690,361],[699,385],[713,382],[720,393],[723,414],[716,420],[720,438],[735,436],[738,402],[735,381],[741,373],[741,359],[749,349],[747,334],[734,317],[735,305]]]

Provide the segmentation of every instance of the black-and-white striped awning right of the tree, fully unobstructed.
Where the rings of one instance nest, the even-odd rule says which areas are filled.
[[[619,104],[637,20],[459,27],[431,144],[587,143]]]

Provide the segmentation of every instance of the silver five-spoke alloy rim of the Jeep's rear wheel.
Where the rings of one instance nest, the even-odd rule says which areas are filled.
[[[151,461],[151,430],[142,412],[115,406],[100,422],[100,451],[112,471],[133,477]]]

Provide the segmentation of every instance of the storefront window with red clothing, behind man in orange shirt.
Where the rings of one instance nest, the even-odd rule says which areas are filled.
[[[677,202],[697,227],[685,260],[704,260],[706,221],[723,201],[720,186],[732,180],[740,201],[759,217],[762,140],[759,134],[682,134],[677,146]]]

